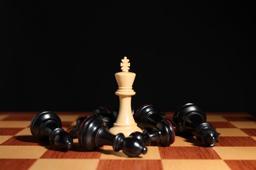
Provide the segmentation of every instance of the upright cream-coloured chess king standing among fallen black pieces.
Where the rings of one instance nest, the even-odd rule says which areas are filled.
[[[116,95],[119,95],[119,112],[114,126],[110,128],[111,133],[115,135],[123,133],[125,137],[129,137],[135,131],[142,132],[142,129],[137,126],[131,110],[131,96],[135,95],[133,82],[136,74],[129,72],[129,66],[129,59],[124,57],[121,59],[121,72],[115,74],[118,84]]]

